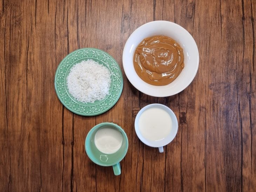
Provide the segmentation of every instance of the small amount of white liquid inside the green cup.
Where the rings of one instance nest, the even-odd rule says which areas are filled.
[[[101,128],[95,133],[94,143],[102,153],[112,154],[121,148],[123,136],[119,130],[109,127]]]

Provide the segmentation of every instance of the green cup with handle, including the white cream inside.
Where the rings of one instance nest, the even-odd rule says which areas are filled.
[[[128,150],[128,138],[124,130],[115,123],[95,125],[85,139],[88,157],[97,165],[113,166],[114,174],[121,174],[120,161]]]

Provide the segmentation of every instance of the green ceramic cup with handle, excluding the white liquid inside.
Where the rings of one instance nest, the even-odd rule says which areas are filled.
[[[112,128],[120,131],[123,137],[122,145],[118,151],[112,154],[107,154],[99,151],[96,148],[94,138],[98,130],[102,128]],[[124,158],[128,150],[128,138],[124,130],[115,123],[100,123],[95,125],[87,134],[85,139],[85,151],[88,157],[96,164],[101,166],[113,166],[114,174],[121,174],[120,161]]]

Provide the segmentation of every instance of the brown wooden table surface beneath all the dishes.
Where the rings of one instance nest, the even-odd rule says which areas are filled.
[[[0,191],[256,191],[255,0],[1,0]],[[129,83],[122,51],[142,24],[168,20],[194,37],[200,64],[177,95],[157,98]],[[120,100],[102,115],[59,101],[61,60],[83,47],[119,63]],[[164,152],[137,138],[134,119],[161,103],[179,129]],[[126,131],[122,173],[95,165],[85,137],[101,122]]]

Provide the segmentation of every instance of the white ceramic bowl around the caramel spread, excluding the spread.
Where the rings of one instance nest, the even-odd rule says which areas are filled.
[[[133,66],[133,55],[138,44],[146,37],[165,35],[177,41],[184,53],[184,69],[170,84],[150,85],[144,82]],[[144,94],[155,97],[167,97],[184,90],[193,81],[199,64],[196,42],[183,27],[170,21],[152,21],[137,28],[128,38],[123,49],[123,69],[130,83]]]

